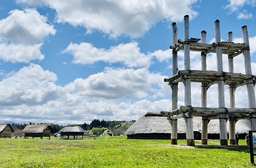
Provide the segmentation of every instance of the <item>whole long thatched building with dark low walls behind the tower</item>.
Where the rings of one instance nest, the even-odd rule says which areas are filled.
[[[146,117],[145,117],[146,116]],[[142,116],[130,128],[127,129],[125,135],[128,139],[171,139],[171,124],[167,117],[156,115]],[[178,139],[186,139],[186,122],[184,119],[178,119]],[[193,117],[194,138],[201,140],[202,118]],[[229,122],[227,122],[229,129]],[[245,135],[251,130],[250,120],[239,120],[236,123],[236,132],[241,134],[244,139]],[[229,133],[229,130],[227,130]],[[219,120],[210,120],[208,124],[208,139],[219,139]]]

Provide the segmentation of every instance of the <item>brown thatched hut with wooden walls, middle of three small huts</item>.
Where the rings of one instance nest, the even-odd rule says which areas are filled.
[[[51,138],[51,134],[53,134],[53,128],[50,124],[32,124],[27,125],[21,132],[22,134],[25,134],[24,137],[40,137],[43,139],[43,137],[49,137]]]

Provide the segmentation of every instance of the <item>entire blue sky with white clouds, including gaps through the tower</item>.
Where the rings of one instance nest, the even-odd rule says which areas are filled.
[[[3,0],[0,3],[1,122],[89,123],[137,120],[147,111],[171,107],[173,21],[184,39],[184,15],[190,37],[214,42],[214,21],[221,37],[242,43],[241,27],[250,36],[256,74],[255,0]],[[179,54],[184,69],[184,52]],[[191,52],[191,69],[201,69],[199,52]],[[228,72],[227,56],[223,55]],[[207,70],[216,71],[216,55]],[[243,55],[234,72],[244,73]],[[200,83],[192,84],[192,105],[201,106]],[[229,107],[228,89],[225,104]],[[217,86],[208,90],[208,107],[218,107]],[[178,106],[184,105],[179,85]],[[236,107],[248,107],[246,87],[236,90]]]

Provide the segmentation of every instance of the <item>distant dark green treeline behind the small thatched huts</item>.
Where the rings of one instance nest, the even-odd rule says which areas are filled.
[[[112,133],[114,134],[124,134],[125,131],[135,122],[135,120],[132,121],[104,121],[104,120],[92,120],[90,124],[77,124],[80,127],[82,127],[84,130],[88,131],[93,128],[108,128]],[[35,124],[35,123],[29,123],[29,125]],[[37,124],[48,124],[48,123],[37,123]],[[15,131],[15,134],[17,136],[20,135],[21,131],[27,126],[28,124],[15,124],[12,123],[12,127]],[[60,129],[65,127],[65,125],[58,125],[58,124],[50,124],[53,128],[54,133],[57,133]]]

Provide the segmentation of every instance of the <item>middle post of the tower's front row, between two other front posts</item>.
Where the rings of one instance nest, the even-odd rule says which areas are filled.
[[[215,45],[217,55],[217,71],[223,71],[221,30],[219,20],[215,20]],[[219,108],[225,108],[224,77],[218,77],[218,104]],[[219,114],[219,137],[221,145],[228,145],[226,118]]]

